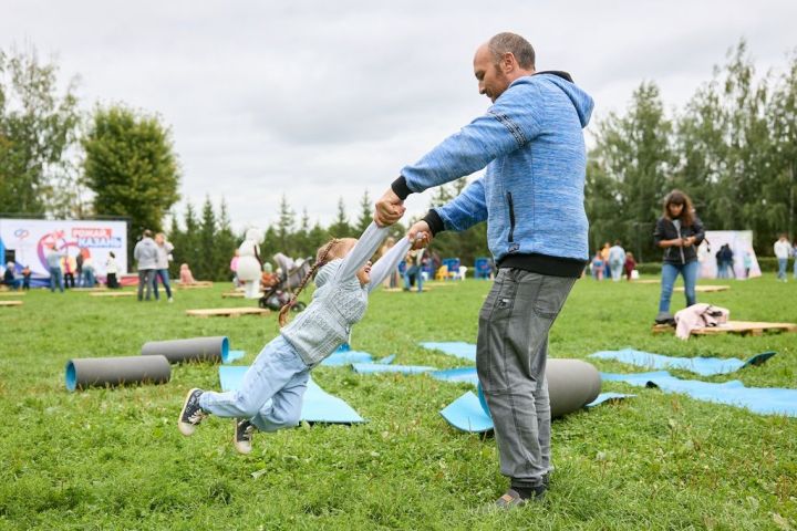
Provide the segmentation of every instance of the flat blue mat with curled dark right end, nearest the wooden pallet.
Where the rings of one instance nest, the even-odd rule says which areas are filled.
[[[722,358],[722,357],[672,357],[650,352],[623,348],[621,351],[601,351],[590,354],[589,357],[599,360],[617,360],[638,367],[648,368],[681,368],[700,374],[701,376],[714,376],[715,374],[728,374],[749,365],[760,365],[775,353],[763,352],[748,360]]]

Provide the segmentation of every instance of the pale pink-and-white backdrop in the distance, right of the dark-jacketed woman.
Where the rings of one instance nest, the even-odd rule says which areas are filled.
[[[729,252],[723,251],[729,259],[729,266],[724,268],[724,272],[717,256],[723,246],[729,249]],[[753,250],[752,230],[706,230],[705,240],[697,248],[697,260],[701,262],[701,279],[742,280],[760,277],[758,259]]]

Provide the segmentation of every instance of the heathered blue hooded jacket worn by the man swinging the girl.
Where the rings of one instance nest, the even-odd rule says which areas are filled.
[[[565,269],[580,274],[589,252],[582,128],[592,106],[566,73],[515,80],[484,116],[404,167],[393,189],[403,199],[486,166],[459,197],[429,211],[432,230],[465,230],[487,220],[497,263],[517,262],[516,254],[552,257],[572,261],[577,268]]]

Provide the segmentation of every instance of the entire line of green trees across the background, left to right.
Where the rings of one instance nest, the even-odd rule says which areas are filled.
[[[187,262],[197,278],[227,278],[242,231],[231,229],[224,201],[216,208],[207,199],[200,211],[188,204],[182,220],[169,216],[182,170],[168,126],[121,103],[81,112],[75,81],[60,85],[58,73],[34,49],[0,50],[0,215],[125,218],[128,250],[145,228],[165,231],[176,267]],[[586,185],[592,250],[620,239],[638,259],[659,260],[652,230],[672,188],[693,198],[707,229],[752,229],[758,253],[772,253],[778,233],[795,235],[797,53],[782,73],[759,75],[741,41],[682,108],[666,112],[658,85],[643,82],[624,112],[592,131]],[[437,188],[432,206],[466,184]],[[355,237],[371,221],[368,191],[360,207],[350,217],[340,199],[324,227],[283,197],[265,228],[263,253],[311,257],[331,237]],[[394,236],[405,229],[396,226]],[[443,232],[433,247],[472,264],[488,256],[485,223]]]

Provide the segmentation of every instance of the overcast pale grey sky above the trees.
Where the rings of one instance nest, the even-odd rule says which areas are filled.
[[[796,20],[794,0],[0,0],[0,48],[54,58],[86,111],[157,113],[182,165],[178,209],[225,198],[242,229],[275,222],[282,195],[324,225],[343,197],[356,218],[365,190],[487,108],[472,61],[497,32],[525,35],[538,70],[569,71],[600,118],[642,81],[682,105],[741,38],[759,70],[783,67]]]

